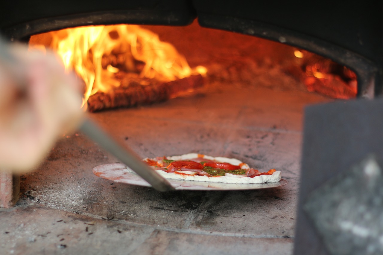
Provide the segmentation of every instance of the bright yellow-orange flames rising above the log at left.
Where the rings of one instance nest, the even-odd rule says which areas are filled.
[[[50,38],[46,46],[57,52],[65,69],[74,70],[85,82],[83,105],[96,92],[118,87],[119,71],[164,82],[206,74],[205,67],[192,69],[172,44],[137,25],[85,26],[44,36]]]

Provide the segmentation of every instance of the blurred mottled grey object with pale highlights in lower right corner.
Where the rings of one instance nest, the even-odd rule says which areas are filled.
[[[383,253],[383,174],[370,157],[317,188],[304,203],[329,253]]]

